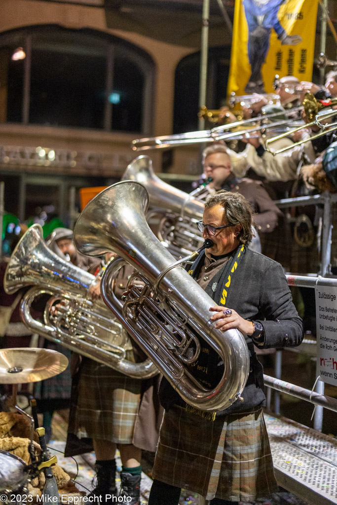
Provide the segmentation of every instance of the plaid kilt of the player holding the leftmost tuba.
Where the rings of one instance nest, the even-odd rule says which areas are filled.
[[[134,361],[133,351],[126,359]],[[131,444],[140,403],[141,380],[132,379],[87,358],[78,372],[78,395],[72,397],[71,432]]]

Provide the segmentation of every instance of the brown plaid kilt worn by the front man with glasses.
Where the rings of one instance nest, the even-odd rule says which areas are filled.
[[[277,491],[262,409],[208,421],[175,405],[164,414],[153,478],[207,500],[249,501]]]

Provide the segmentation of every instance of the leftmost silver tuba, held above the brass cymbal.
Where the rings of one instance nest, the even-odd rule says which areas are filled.
[[[93,275],[62,260],[47,247],[41,226],[35,224],[13,251],[4,288],[12,294],[23,286],[34,286],[21,303],[23,322],[33,332],[129,377],[156,375],[158,370],[150,360],[133,363],[125,359],[127,333],[102,301],[92,301],[88,296],[94,281]],[[31,306],[41,294],[50,295],[43,322],[31,315]]]

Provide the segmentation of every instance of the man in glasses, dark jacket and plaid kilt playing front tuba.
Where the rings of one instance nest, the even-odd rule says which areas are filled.
[[[165,414],[153,469],[149,505],[177,505],[181,487],[211,500],[211,505],[254,500],[277,490],[262,408],[265,405],[260,348],[297,346],[302,321],[294,307],[281,265],[252,251],[252,212],[239,193],[212,195],[198,223],[213,245],[189,274],[213,298],[210,319],[217,328],[246,335],[250,374],[242,393],[217,413],[198,411],[182,401],[166,379],[159,395]],[[215,351],[201,342],[191,373],[213,387],[223,373]]]

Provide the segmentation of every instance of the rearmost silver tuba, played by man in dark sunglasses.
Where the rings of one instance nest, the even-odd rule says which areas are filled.
[[[150,196],[147,221],[151,223],[154,217],[159,217],[157,236],[174,257],[202,245],[204,239],[193,224],[203,217],[203,203],[157,177],[148,156],[133,160],[121,180],[137,181],[146,187]]]

